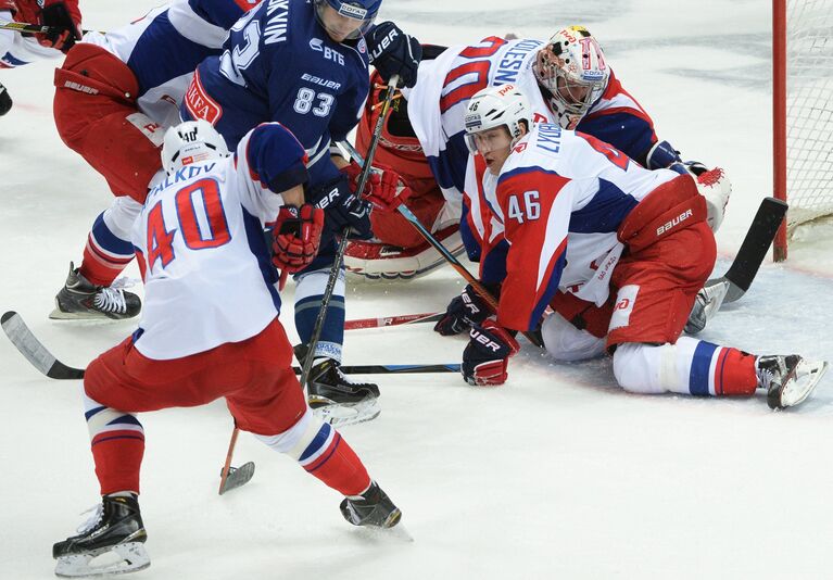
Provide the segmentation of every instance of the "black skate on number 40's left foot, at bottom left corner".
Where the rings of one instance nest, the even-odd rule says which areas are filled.
[[[52,546],[58,577],[126,573],[150,566],[143,545],[148,534],[135,496],[103,497],[78,532]]]

